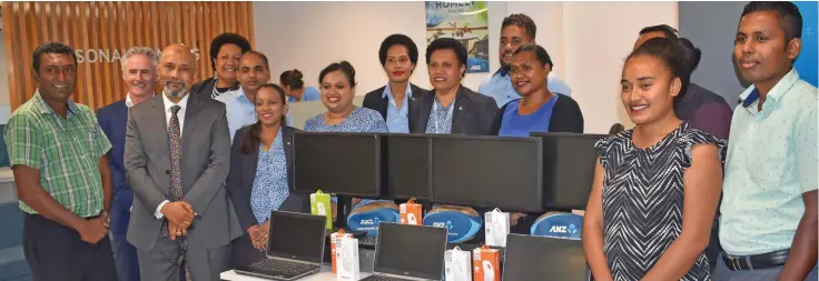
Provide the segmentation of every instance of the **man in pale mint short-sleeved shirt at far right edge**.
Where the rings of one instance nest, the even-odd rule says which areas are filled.
[[[791,2],[751,2],[733,59],[753,83],[733,111],[716,280],[817,280],[817,89],[801,80],[802,18]]]

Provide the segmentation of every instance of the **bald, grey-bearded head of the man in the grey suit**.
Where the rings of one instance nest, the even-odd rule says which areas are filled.
[[[190,92],[196,77],[196,57],[187,46],[166,47],[159,58],[159,82],[169,99],[181,99]]]

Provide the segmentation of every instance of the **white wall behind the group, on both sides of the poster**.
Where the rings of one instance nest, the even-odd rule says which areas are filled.
[[[665,23],[678,27],[677,2],[489,2],[490,69],[497,69],[501,21],[523,12],[537,23],[537,43],[555,63],[554,71],[573,89],[585,118],[585,131],[605,133],[621,122],[631,126],[620,102],[620,72],[638,31]],[[418,67],[411,81],[431,88],[425,71],[424,2],[254,2],[256,48],[267,54],[275,77],[297,68],[308,86],[330,62],[356,68],[357,94],[382,87],[387,78],[378,62],[381,41],[404,33],[418,44]],[[464,86],[477,90],[489,74],[467,74]]]

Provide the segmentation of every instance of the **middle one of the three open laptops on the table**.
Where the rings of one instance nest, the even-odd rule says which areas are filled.
[[[382,222],[373,274],[362,281],[443,280],[446,229]]]

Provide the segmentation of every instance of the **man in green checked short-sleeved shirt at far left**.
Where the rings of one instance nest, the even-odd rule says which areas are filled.
[[[117,280],[108,240],[111,143],[91,109],[69,99],[77,82],[73,50],[43,43],[32,61],[37,92],[3,132],[26,213],[26,261],[34,281]]]

